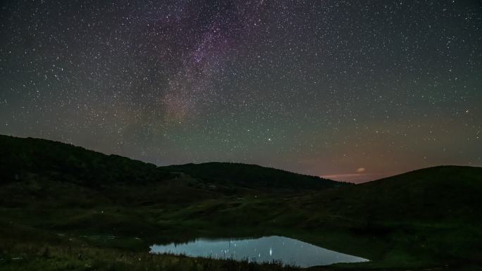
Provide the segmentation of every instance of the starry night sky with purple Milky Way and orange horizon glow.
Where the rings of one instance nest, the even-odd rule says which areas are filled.
[[[480,1],[0,2],[0,134],[364,182],[481,131]]]

